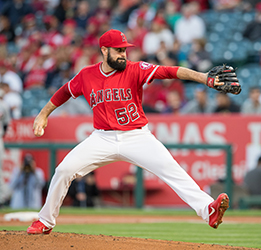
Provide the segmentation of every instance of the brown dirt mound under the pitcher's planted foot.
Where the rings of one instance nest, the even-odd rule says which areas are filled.
[[[165,240],[115,237],[105,235],[84,235],[52,232],[49,235],[28,235],[21,231],[0,231],[0,249],[62,249],[62,250],[244,250],[251,248],[186,243]]]

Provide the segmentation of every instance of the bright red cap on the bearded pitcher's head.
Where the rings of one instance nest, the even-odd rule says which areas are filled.
[[[126,36],[119,30],[109,30],[105,32],[99,39],[100,48],[112,47],[112,48],[125,48],[133,47],[135,45],[128,43]]]

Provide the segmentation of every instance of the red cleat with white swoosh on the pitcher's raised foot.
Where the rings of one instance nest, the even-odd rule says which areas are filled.
[[[222,223],[224,213],[229,208],[229,198],[227,194],[222,193],[218,198],[208,205],[209,225],[213,228],[218,228]]]

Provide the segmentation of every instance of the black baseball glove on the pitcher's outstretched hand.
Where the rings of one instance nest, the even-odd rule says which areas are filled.
[[[214,85],[216,76],[218,76],[219,82],[224,82],[224,85]],[[225,94],[232,93],[238,95],[241,92],[241,85],[238,82],[236,71],[232,66],[223,65],[212,68],[208,72],[206,85]]]

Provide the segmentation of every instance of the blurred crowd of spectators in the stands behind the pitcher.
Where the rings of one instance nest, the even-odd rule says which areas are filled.
[[[213,13],[219,17],[224,15],[221,23],[213,22]],[[217,33],[211,29],[222,31],[224,24],[229,25],[226,18],[230,18],[231,13],[249,13],[244,16],[242,27],[236,25],[241,34],[226,33],[223,29],[216,41],[219,44],[215,45]],[[260,67],[261,45],[256,43],[261,41],[259,1],[0,0],[0,88],[11,117],[19,119],[36,114],[38,110],[33,107],[40,105],[38,108],[41,108],[45,100],[79,70],[101,61],[98,39],[111,28],[123,31],[128,41],[136,45],[127,51],[132,61],[186,66],[207,72],[218,63],[214,56],[219,53],[213,47],[219,48],[231,35],[233,41],[255,45],[257,52],[249,62]],[[230,44],[232,51],[238,46],[235,44],[234,47]],[[222,61],[226,62],[237,53],[236,50],[232,55],[224,53]],[[249,58],[245,59],[244,63],[247,63]],[[175,114],[261,114],[261,82],[251,81],[251,85],[251,89],[244,89],[247,84],[243,84],[243,91],[249,92],[246,96],[249,98],[242,104],[221,93],[215,94],[215,102],[213,99],[210,102],[208,99],[212,96],[207,88],[202,89],[195,83],[155,80],[144,86],[144,110]],[[191,86],[193,90],[189,95]],[[45,99],[41,103],[43,96]],[[36,102],[33,103],[34,97]],[[68,114],[91,114],[91,109],[85,100],[77,98],[53,115]]]

